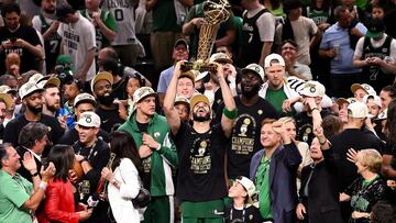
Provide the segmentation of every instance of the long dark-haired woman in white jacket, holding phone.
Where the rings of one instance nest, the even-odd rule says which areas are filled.
[[[118,223],[140,222],[142,214],[132,204],[141,188],[140,174],[143,167],[132,136],[125,132],[113,132],[110,142],[116,154],[111,169],[105,167],[101,175],[108,185],[111,212]],[[143,213],[143,212],[142,212]]]

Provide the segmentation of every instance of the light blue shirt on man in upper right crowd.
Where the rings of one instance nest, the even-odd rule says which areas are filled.
[[[365,35],[367,29],[358,23],[355,26],[361,33]],[[329,49],[339,46],[338,59],[331,59],[331,74],[355,74],[361,73],[361,69],[353,67],[354,49],[351,48],[348,29],[342,29],[339,23],[331,25],[323,34],[320,43],[320,49]]]

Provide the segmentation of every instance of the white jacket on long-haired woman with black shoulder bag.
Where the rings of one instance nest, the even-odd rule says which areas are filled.
[[[141,188],[139,172],[132,160],[121,159],[120,166],[114,170],[114,178],[120,183],[118,189],[108,185],[108,197],[112,214],[118,223],[140,222],[144,210],[138,210],[132,204]]]

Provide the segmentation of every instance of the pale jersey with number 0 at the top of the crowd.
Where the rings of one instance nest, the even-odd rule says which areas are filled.
[[[132,0],[103,0],[102,3],[102,10],[110,11],[117,23],[117,35],[111,45],[135,44],[135,20]]]

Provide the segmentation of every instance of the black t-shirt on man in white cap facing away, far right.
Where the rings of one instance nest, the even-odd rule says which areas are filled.
[[[384,149],[382,141],[367,130],[346,129],[342,133],[330,137],[331,149],[333,149],[337,163],[340,183],[340,192],[349,187],[358,178],[356,166],[346,159],[346,152],[350,148],[361,150],[364,148],[374,148],[380,153]]]

